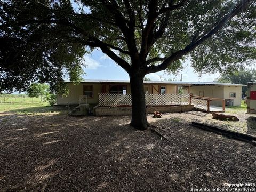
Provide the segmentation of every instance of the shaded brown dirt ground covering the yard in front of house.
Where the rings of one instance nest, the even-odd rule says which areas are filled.
[[[169,142],[133,129],[129,116],[0,114],[0,191],[191,191],[255,183],[256,146],[190,126],[194,120],[211,117],[148,115]]]

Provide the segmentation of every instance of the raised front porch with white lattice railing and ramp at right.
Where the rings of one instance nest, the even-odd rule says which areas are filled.
[[[146,113],[155,110],[162,113],[177,113],[200,110],[207,113],[225,111],[225,100],[206,98],[191,94],[145,94]],[[211,101],[221,101],[222,106],[213,106]],[[131,94],[100,93],[99,104],[94,107],[95,115],[130,115]]]

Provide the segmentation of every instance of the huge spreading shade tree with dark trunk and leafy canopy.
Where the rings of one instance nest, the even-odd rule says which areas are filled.
[[[63,73],[77,80],[83,54],[97,47],[129,74],[131,125],[147,129],[145,75],[165,69],[177,72],[187,57],[201,73],[231,71],[251,62],[256,57],[255,4],[255,0],[1,1],[1,89],[26,89],[37,78],[60,92]]]

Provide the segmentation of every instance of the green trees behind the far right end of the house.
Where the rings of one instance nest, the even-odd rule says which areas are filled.
[[[256,81],[256,69],[244,69],[235,71],[234,73],[221,74],[216,81],[222,83],[237,83],[247,85],[248,82]],[[246,91],[247,86],[242,86],[243,95],[246,95]]]

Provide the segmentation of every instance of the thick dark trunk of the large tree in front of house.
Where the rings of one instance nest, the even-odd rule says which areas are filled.
[[[130,74],[132,94],[132,121],[130,125],[140,130],[147,130],[150,125],[146,116],[143,78],[144,75],[139,73]]]

